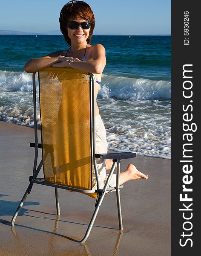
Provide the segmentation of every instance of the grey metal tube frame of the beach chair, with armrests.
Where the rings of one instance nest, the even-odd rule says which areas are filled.
[[[122,214],[121,214],[121,200],[120,200],[120,188],[123,186],[119,186],[119,175],[120,175],[120,162],[121,159],[125,158],[133,158],[136,156],[135,153],[125,152],[125,153],[109,153],[109,154],[96,154],[95,153],[95,82],[94,82],[94,75],[92,73],[89,73],[89,86],[91,88],[91,99],[92,99],[92,155],[93,155],[93,165],[95,169],[95,175],[96,175],[96,181],[97,181],[97,189],[96,190],[84,190],[84,189],[78,189],[73,188],[69,186],[62,186],[54,183],[48,183],[45,181],[45,178],[37,178],[37,175],[40,172],[41,167],[43,166],[43,158],[40,160],[40,163],[37,166],[37,160],[38,160],[38,148],[42,148],[42,145],[38,143],[38,135],[37,135],[37,103],[36,103],[36,73],[38,73],[38,81],[39,81],[39,87],[40,87],[40,72],[34,72],[33,73],[33,105],[34,105],[34,137],[35,137],[35,143],[30,143],[31,147],[35,148],[35,156],[34,156],[34,167],[33,167],[33,176],[29,177],[29,186],[26,189],[25,194],[23,195],[23,198],[20,201],[19,206],[17,207],[16,212],[14,213],[14,216],[11,220],[11,226],[14,226],[15,219],[17,218],[17,215],[20,212],[20,209],[23,207],[24,202],[26,201],[26,198],[28,194],[30,194],[32,190],[32,186],[34,183],[42,184],[45,186],[52,186],[55,187],[55,198],[56,198],[56,210],[57,215],[60,215],[60,205],[59,205],[59,192],[58,189],[66,189],[71,190],[74,192],[81,192],[81,193],[97,193],[97,200],[95,203],[95,210],[93,212],[91,221],[89,222],[89,226],[86,230],[86,233],[79,242],[83,243],[88,238],[93,224],[95,222],[95,218],[98,214],[98,211],[100,209],[100,206],[103,202],[103,198],[106,195],[106,191],[116,190],[116,197],[117,197],[117,207],[118,207],[118,221],[119,221],[119,230],[123,230],[123,223],[122,223]],[[98,180],[98,169],[97,169],[97,163],[96,158],[102,158],[102,159],[112,159],[113,164],[112,168],[110,169],[109,176],[106,180],[105,186],[103,188],[99,188],[99,180]],[[115,171],[115,167],[117,165],[117,175],[116,175],[116,186],[115,187],[109,187],[109,182],[111,180],[112,174]]]

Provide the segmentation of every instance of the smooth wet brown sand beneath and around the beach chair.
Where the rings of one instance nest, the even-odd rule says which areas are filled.
[[[118,231],[115,192],[106,195],[85,244],[81,239],[94,210],[95,199],[34,184],[18,215],[10,221],[29,185],[34,162],[34,129],[0,121],[0,256],[170,256],[171,161],[138,156],[122,160],[149,175],[121,189],[123,233]],[[40,158],[40,156],[39,156]],[[38,177],[43,177],[40,173]]]

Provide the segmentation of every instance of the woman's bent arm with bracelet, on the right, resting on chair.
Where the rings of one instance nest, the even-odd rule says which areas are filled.
[[[93,48],[92,48],[93,47]],[[101,44],[96,44],[92,46],[90,61],[73,61],[71,62],[71,67],[77,70],[82,70],[90,73],[101,74],[103,73],[104,67],[106,65],[105,48]],[[52,67],[69,67],[69,60],[62,61],[60,63],[55,63]]]

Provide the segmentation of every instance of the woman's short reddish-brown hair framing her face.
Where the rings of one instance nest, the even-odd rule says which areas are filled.
[[[73,0],[66,3],[61,9],[59,17],[60,31],[66,40],[66,44],[69,46],[71,46],[71,40],[68,36],[67,22],[73,19],[83,19],[92,23],[89,37],[86,40],[87,44],[90,44],[95,27],[95,17],[91,7],[83,1]]]

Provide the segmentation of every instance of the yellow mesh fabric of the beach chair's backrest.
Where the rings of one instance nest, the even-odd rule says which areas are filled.
[[[55,67],[40,71],[46,182],[92,189],[90,90],[88,73]]]

